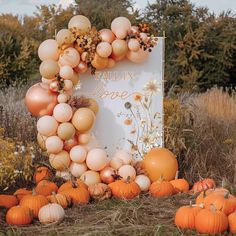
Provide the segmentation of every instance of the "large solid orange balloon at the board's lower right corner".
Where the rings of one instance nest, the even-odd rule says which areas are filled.
[[[166,148],[151,149],[144,157],[142,164],[152,182],[161,177],[170,181],[175,178],[178,170],[176,156]]]

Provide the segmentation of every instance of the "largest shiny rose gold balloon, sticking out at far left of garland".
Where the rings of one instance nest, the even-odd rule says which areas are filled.
[[[47,84],[35,84],[28,89],[25,104],[34,116],[51,115],[57,104],[57,93],[52,93]]]

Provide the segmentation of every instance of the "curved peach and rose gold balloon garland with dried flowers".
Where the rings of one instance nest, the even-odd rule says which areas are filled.
[[[80,75],[88,69],[94,74],[114,67],[125,57],[141,63],[156,43],[146,24],[132,26],[126,17],[117,17],[111,29],[97,31],[87,17],[77,15],[70,19],[68,29],[40,44],[42,81],[29,88],[25,104],[38,117],[38,144],[47,151],[50,165],[60,176],[68,177],[69,170],[74,177],[84,177],[87,184],[101,182],[101,178],[109,183],[114,179],[113,171],[119,169],[121,177],[135,179],[130,155],[120,151],[109,166],[105,150],[99,148],[91,133],[98,103],[72,95],[80,86]],[[98,172],[102,170],[100,178]]]

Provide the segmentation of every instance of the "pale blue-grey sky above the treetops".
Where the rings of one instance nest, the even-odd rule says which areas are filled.
[[[147,1],[150,3],[155,0],[134,0],[138,8],[144,8]],[[73,3],[73,0],[0,0],[0,14],[13,13],[20,15],[32,15],[36,6],[40,4],[61,4],[63,7]],[[232,10],[236,13],[236,0],[191,0],[196,6],[208,7],[210,11],[219,14],[223,10]]]

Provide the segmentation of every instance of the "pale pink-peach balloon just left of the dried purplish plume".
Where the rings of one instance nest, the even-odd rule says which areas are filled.
[[[71,119],[73,110],[67,103],[59,103],[53,110],[53,116],[58,122],[67,122]]]

